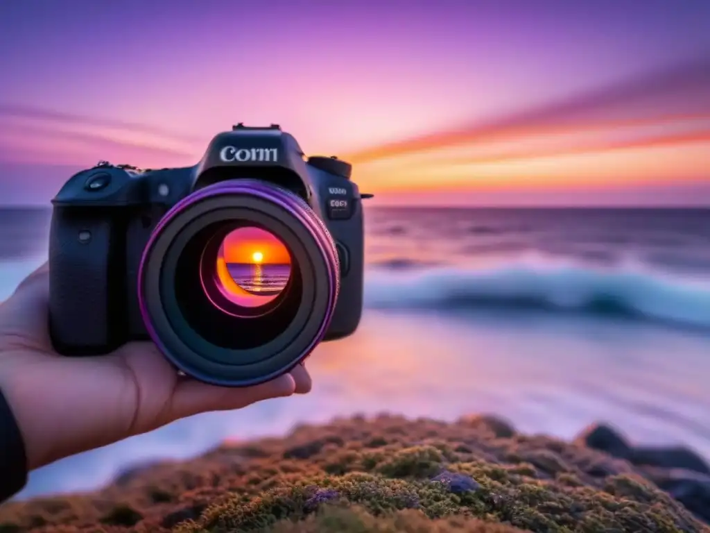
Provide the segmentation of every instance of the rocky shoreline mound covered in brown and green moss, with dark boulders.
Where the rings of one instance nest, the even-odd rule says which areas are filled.
[[[710,467],[590,426],[571,443],[494,416],[298,426],[87,495],[0,506],[0,533],[710,532]]]

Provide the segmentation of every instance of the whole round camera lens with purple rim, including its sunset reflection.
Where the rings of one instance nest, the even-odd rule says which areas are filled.
[[[245,386],[288,372],[322,340],[339,275],[333,239],[303,200],[239,179],[192,193],[158,222],[138,298],[176,367]]]

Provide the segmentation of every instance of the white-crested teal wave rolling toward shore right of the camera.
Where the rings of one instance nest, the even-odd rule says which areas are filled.
[[[379,309],[506,308],[661,321],[710,331],[710,281],[646,269],[506,264],[487,269],[372,269],[365,305]]]

